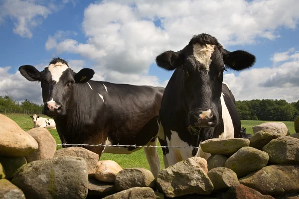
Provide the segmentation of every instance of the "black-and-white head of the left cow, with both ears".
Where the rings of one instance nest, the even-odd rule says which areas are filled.
[[[94,75],[94,71],[87,68],[75,73],[67,62],[60,58],[52,59],[49,66],[41,72],[30,65],[20,66],[19,71],[27,80],[41,82],[43,114],[50,117],[65,115],[66,104],[72,97],[75,85],[86,83]]]

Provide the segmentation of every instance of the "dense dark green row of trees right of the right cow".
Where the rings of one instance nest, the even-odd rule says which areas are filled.
[[[299,100],[245,100],[236,105],[244,120],[294,121],[299,115]]]

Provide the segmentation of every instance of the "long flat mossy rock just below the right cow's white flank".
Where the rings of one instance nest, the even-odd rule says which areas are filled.
[[[201,142],[201,150],[210,154],[232,155],[244,146],[249,146],[249,139],[232,138],[220,139],[213,138]]]

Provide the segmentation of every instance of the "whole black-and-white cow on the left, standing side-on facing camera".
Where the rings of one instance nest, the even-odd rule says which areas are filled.
[[[61,58],[53,58],[41,72],[19,67],[28,81],[41,83],[44,108],[52,117],[62,143],[156,145],[159,108],[164,88],[91,80],[95,72],[74,72]],[[99,154],[131,154],[142,147],[83,146]],[[144,147],[154,177],[160,161],[154,147]]]

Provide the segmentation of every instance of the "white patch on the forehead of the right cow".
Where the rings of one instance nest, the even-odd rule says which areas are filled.
[[[214,46],[215,45],[210,44],[206,44],[206,46],[193,44],[193,56],[199,63],[203,64],[207,70],[209,70],[212,62],[211,56],[214,52]]]

